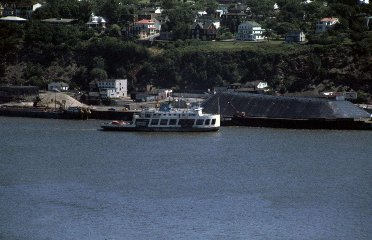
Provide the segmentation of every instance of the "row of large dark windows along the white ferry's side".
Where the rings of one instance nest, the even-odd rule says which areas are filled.
[[[177,122],[178,120],[178,122]],[[150,119],[137,119],[135,124],[137,126],[147,126],[150,123]],[[216,119],[151,119],[150,125],[183,125],[183,126],[193,126],[193,125],[214,125],[216,124]]]

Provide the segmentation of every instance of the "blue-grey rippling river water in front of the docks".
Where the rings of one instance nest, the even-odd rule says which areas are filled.
[[[0,117],[0,239],[372,239],[372,131]]]

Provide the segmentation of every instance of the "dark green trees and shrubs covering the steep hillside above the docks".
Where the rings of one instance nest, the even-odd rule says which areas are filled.
[[[249,2],[254,6],[255,1]],[[372,32],[366,31],[362,21],[349,26],[347,20],[341,19],[342,24],[323,34],[309,32],[306,45],[288,45],[280,40],[243,43],[179,39],[175,42],[157,41],[148,48],[121,37],[121,27],[117,24],[112,24],[105,34],[99,34],[100,29],[84,29],[84,21],[92,9],[99,8],[102,13],[108,9],[103,3],[90,6],[89,11],[80,11],[83,6],[76,8],[88,3],[94,1],[70,3],[53,0],[44,10],[42,7],[35,11],[35,19],[25,24],[1,24],[0,84],[45,87],[51,81],[64,81],[70,84],[70,88],[85,90],[94,78],[128,78],[129,87],[135,83],[152,83],[160,88],[188,87],[207,91],[215,85],[260,80],[267,81],[280,93],[306,90],[372,92]],[[176,6],[182,2],[167,3],[173,4],[168,8],[182,9]],[[77,17],[80,23],[77,26],[51,26],[38,20],[64,17],[69,8],[53,8],[58,4],[75,7],[70,6],[68,16]],[[339,3],[332,4],[340,7]],[[343,3],[342,6],[347,5]],[[358,7],[355,5],[354,10]],[[187,8],[187,13],[191,9],[188,5],[183,8]],[[119,23],[123,13],[131,9],[124,7],[122,12],[111,14],[117,14],[115,22]],[[183,12],[180,10],[179,13]],[[343,11],[335,10],[335,13]],[[284,21],[285,16],[282,14],[278,19]],[[286,17],[287,21],[291,20]],[[295,22],[300,23],[296,16],[292,16],[292,20],[292,25],[279,20],[275,25],[274,20],[267,20],[264,16],[257,21],[262,21],[266,27],[273,25],[276,33],[280,33],[280,27],[293,27]],[[177,22],[171,23],[175,24],[173,27],[178,26]],[[306,23],[306,26],[314,29],[311,24]],[[171,24],[167,23],[165,27],[170,29]],[[279,39],[279,35],[276,38]]]

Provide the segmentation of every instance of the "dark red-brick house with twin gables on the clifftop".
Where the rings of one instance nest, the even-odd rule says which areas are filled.
[[[202,40],[216,40],[221,34],[217,30],[214,23],[198,23],[195,22],[190,27],[190,38],[191,39],[202,39]]]

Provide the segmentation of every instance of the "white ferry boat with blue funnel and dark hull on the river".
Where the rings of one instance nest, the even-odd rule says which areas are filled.
[[[202,110],[200,106],[171,110],[167,104],[158,110],[144,109],[135,113],[131,122],[112,121],[100,126],[115,131],[218,131],[219,114],[206,114]]]

